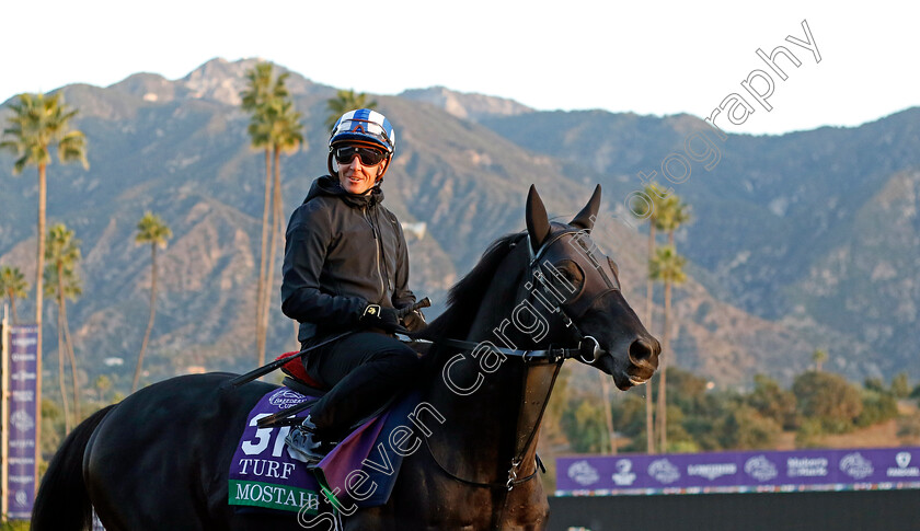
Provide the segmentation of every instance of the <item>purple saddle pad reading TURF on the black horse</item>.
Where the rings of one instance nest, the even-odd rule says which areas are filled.
[[[353,505],[366,508],[386,504],[402,463],[402,455],[388,445],[392,445],[393,430],[411,426],[406,416],[413,403],[409,399],[367,420],[308,470],[285,445],[290,426],[258,428],[256,423],[311,397],[287,388],[269,391],[246,417],[230,462],[229,505],[242,511],[261,508],[292,512],[306,506],[303,513],[315,515],[320,496],[337,509],[345,508],[345,512]],[[417,397],[414,400],[417,402]],[[355,481],[360,477],[367,480]]]

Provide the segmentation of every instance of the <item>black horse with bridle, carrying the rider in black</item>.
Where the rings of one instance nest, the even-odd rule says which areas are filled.
[[[660,347],[620,291],[589,231],[600,186],[568,224],[551,223],[531,187],[527,231],[505,236],[450,291],[426,331],[422,399],[436,412],[403,460],[389,501],[349,530],[544,529],[537,434],[562,361],[577,357],[620,389],[643,383]],[[78,426],[53,459],[33,529],[78,530],[94,507],[110,531],[332,529],[329,512],[239,515],[228,473],[246,415],[274,389],[231,374],[150,385]],[[421,432],[419,432],[421,431]]]

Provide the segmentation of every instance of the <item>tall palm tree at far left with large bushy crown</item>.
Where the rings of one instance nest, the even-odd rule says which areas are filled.
[[[79,130],[70,129],[70,119],[77,115],[70,109],[60,93],[45,97],[44,94],[20,94],[16,103],[10,104],[12,116],[7,118],[9,127],[3,129],[0,149],[12,151],[19,157],[13,163],[13,174],[20,174],[30,165],[38,169],[38,238],[35,253],[35,325],[38,330],[36,345],[38,378],[35,383],[35,400],[42,403],[42,302],[44,296],[43,275],[45,269],[45,199],[46,169],[51,162],[49,149],[57,145],[58,158],[62,163],[79,161],[84,169],[87,162],[87,139]],[[9,138],[9,140],[8,140]],[[41,408],[39,408],[41,409]],[[42,440],[42,412],[35,419],[35,439]],[[41,445],[35,445],[35,459],[41,458]]]

